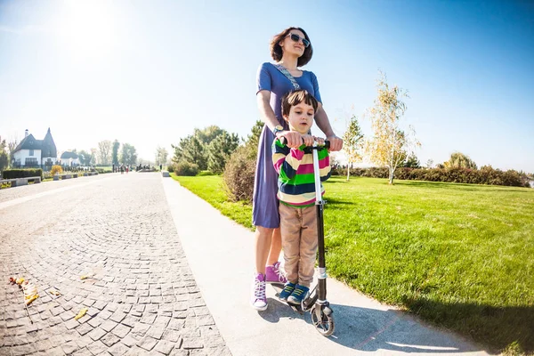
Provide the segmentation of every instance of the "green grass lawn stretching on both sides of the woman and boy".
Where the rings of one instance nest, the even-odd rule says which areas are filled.
[[[248,228],[220,176],[174,177]],[[496,350],[534,352],[534,190],[332,177],[328,272]],[[512,346],[511,346],[512,345]]]

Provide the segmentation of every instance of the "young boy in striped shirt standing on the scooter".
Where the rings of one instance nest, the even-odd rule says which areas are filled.
[[[305,90],[287,93],[282,98],[282,116],[290,131],[303,135],[303,142],[320,145],[324,141],[310,136],[310,128],[317,110],[317,100]],[[280,232],[287,283],[279,298],[287,303],[300,304],[310,290],[317,254],[317,214],[312,153],[304,153],[305,144],[289,149],[275,139],[272,162],[279,173]],[[320,181],[330,177],[328,150],[318,150]],[[321,185],[321,194],[324,189]]]

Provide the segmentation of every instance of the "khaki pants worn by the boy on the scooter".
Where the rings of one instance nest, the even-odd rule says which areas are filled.
[[[279,214],[287,280],[310,287],[317,255],[316,208],[280,203]]]

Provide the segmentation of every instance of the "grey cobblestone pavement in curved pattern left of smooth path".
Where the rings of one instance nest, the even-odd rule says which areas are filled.
[[[55,193],[56,183],[0,191],[0,355],[231,354],[159,174],[84,177]],[[33,323],[15,276],[37,287]]]

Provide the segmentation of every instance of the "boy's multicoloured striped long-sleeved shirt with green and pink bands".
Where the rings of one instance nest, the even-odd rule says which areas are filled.
[[[272,143],[272,163],[279,173],[278,198],[289,206],[312,206],[315,204],[315,184],[313,176],[313,155],[304,153],[302,145],[289,149],[279,139]],[[328,150],[317,151],[319,157],[320,182],[330,177],[330,158]],[[321,184],[321,194],[325,189]]]

